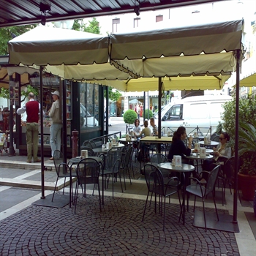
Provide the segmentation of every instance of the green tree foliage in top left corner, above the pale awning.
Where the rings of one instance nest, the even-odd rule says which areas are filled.
[[[0,55],[8,54],[7,42],[12,38],[20,36],[27,31],[34,29],[37,24],[25,25],[25,26],[10,26],[0,29]]]

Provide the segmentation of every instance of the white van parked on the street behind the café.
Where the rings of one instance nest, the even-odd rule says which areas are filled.
[[[187,134],[196,132],[197,126],[204,135],[210,134],[210,127],[211,134],[214,133],[224,111],[222,105],[231,99],[228,95],[193,96],[165,105],[161,113],[164,134],[167,127],[168,131],[175,131],[180,126],[186,127]]]

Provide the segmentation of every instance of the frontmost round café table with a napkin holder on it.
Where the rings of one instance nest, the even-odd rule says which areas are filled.
[[[162,162],[161,164],[158,164],[157,167],[159,169],[169,170],[170,172],[178,172],[184,174],[184,185],[183,185],[183,202],[182,202],[182,218],[183,218],[183,225],[185,224],[185,193],[186,193],[186,187],[187,187],[187,181],[189,174],[195,170],[195,166],[193,165],[187,165],[187,164],[181,164],[181,166],[174,166],[171,162]]]

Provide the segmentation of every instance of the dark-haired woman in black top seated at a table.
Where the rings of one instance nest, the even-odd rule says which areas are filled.
[[[181,156],[182,159],[185,159],[184,155],[189,156],[191,154],[193,138],[188,138],[189,145],[185,146],[184,140],[186,138],[187,138],[186,128],[178,127],[176,132],[174,132],[173,134],[173,142],[170,145],[170,151],[167,157],[170,161],[173,159],[174,155]]]

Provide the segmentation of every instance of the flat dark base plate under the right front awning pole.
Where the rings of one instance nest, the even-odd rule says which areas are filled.
[[[205,228],[203,211],[195,211],[193,226]],[[215,212],[206,212],[206,227],[210,230],[220,230],[239,233],[238,224],[233,223],[233,216],[219,214],[219,221]]]

